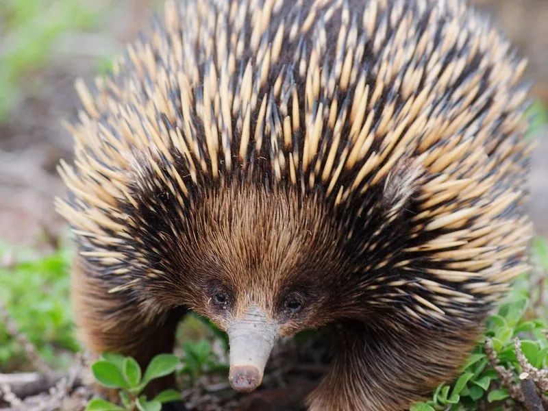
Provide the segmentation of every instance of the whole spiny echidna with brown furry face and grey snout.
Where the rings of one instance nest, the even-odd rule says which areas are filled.
[[[527,269],[524,69],[460,0],[168,1],[77,84],[85,344],[145,363],[194,310],[248,392],[279,337],[335,324],[310,410],[408,407]]]

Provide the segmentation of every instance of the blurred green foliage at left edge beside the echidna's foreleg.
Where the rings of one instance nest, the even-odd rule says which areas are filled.
[[[71,249],[47,256],[0,245],[0,301],[47,362],[68,365],[76,343],[69,301]],[[66,355],[60,355],[65,353]],[[0,372],[25,369],[25,353],[0,322]]]

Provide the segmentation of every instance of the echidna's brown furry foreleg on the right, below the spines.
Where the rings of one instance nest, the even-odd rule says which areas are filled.
[[[398,331],[349,325],[332,369],[308,398],[309,410],[406,409],[455,377],[479,332],[471,324]]]

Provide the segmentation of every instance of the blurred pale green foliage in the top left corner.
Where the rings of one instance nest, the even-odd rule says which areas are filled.
[[[0,1],[0,122],[36,71],[49,62],[60,34],[88,29],[98,16],[92,1]]]

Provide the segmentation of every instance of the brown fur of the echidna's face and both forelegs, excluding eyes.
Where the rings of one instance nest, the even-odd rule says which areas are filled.
[[[397,305],[379,316],[361,303],[368,292],[349,275],[351,258],[336,246],[344,232],[319,201],[299,203],[291,191],[244,185],[208,192],[199,204],[189,222],[192,236],[166,238],[167,252],[181,258],[171,262],[186,273],[179,282],[151,279],[132,290],[140,301],[131,303],[77,266],[75,312],[93,351],[132,355],[145,365],[155,353],[171,351],[178,306],[225,329],[255,303],[271,319],[282,318],[282,335],[340,323],[332,371],[310,396],[310,410],[396,410],[451,379],[479,337],[481,320],[446,318],[422,327],[402,317]],[[232,290],[229,312],[209,303],[210,285],[218,283]],[[297,318],[279,312],[277,299],[286,289],[306,294]]]

